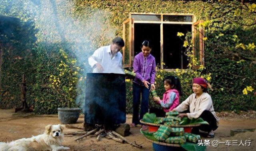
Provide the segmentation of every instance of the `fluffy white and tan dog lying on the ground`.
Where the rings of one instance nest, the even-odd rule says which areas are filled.
[[[68,150],[62,146],[64,126],[47,125],[44,134],[22,138],[10,143],[0,142],[0,151],[59,151]]]

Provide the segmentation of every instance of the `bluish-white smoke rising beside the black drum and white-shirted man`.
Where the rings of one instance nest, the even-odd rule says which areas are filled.
[[[74,0],[8,0],[0,2],[1,14],[32,20],[38,29],[37,44],[59,43],[69,54],[74,54],[83,69],[83,78],[92,69],[88,57],[99,47],[110,44],[116,29],[109,22],[110,12],[76,6]],[[13,8],[18,12],[11,13]],[[81,78],[80,78],[81,79]],[[78,80],[76,103],[83,108],[85,83]]]

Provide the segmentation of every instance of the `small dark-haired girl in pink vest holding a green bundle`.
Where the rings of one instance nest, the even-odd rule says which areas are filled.
[[[154,97],[154,101],[161,105],[162,109],[151,108],[150,113],[156,113],[157,117],[164,117],[166,112],[172,111],[180,104],[180,96],[182,89],[180,79],[174,76],[167,76],[164,78],[164,95],[161,100],[160,97]]]

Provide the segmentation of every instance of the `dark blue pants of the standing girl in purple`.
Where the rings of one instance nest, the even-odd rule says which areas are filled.
[[[142,86],[137,83],[133,83],[132,123],[134,123],[135,125],[140,124],[140,119],[142,119],[143,115],[148,112],[149,90],[150,90],[150,85],[149,85],[149,89],[147,89],[144,85]],[[140,104],[140,94],[142,94],[141,104]],[[139,105],[140,105],[140,116],[139,116]]]

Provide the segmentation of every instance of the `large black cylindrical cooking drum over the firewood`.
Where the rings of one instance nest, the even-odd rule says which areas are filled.
[[[86,75],[84,121],[86,124],[114,125],[126,122],[124,74]]]

